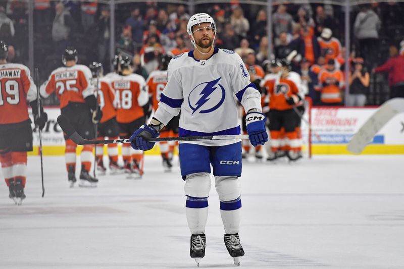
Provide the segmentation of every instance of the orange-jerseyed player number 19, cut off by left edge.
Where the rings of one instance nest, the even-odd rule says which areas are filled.
[[[47,115],[40,107],[36,86],[24,65],[7,63],[8,47],[0,41],[0,162],[9,197],[18,205],[25,198],[27,151],[32,151],[30,103],[34,123],[43,129]]]

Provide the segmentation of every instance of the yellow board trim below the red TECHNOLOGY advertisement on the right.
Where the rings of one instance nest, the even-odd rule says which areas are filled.
[[[350,154],[346,144],[312,145],[312,154]],[[404,154],[404,145],[368,145],[361,154]]]

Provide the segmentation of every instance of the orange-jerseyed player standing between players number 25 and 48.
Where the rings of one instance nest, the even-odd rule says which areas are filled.
[[[101,63],[93,62],[89,68],[92,74],[95,95],[97,96],[99,107],[103,112],[103,117],[97,125],[96,137],[97,139],[105,139],[105,137],[108,137],[108,139],[118,139],[119,129],[114,107],[115,92],[111,88],[110,79],[104,77]],[[98,85],[96,85],[97,82]],[[97,171],[100,175],[104,175],[107,171],[103,161],[104,145],[96,145],[95,153]],[[110,159],[109,167],[111,174],[121,171],[122,168],[118,165],[117,144],[108,144],[108,156]]]

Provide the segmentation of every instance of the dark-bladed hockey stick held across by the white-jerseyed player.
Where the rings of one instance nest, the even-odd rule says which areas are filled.
[[[63,115],[58,117],[59,126],[66,135],[78,145],[95,145],[95,144],[124,144],[130,143],[129,139],[107,139],[107,140],[88,140],[81,137],[74,127],[69,123]],[[248,139],[248,135],[205,135],[205,136],[184,136],[184,137],[164,137],[146,139],[149,142],[159,141],[209,141],[209,140],[234,140]]]

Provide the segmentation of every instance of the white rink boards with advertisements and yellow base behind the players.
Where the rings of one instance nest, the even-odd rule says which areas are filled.
[[[310,119],[312,154],[350,154],[346,150],[346,144],[376,110],[377,107],[313,107]],[[45,111],[48,121],[42,131],[42,153],[63,155],[65,152],[63,132],[56,121],[60,109],[45,107]],[[33,139],[34,150],[29,154],[37,155],[39,135],[35,129]],[[304,139],[308,137],[304,136]],[[106,147],[104,150],[106,152]],[[145,154],[160,154],[158,145]],[[404,154],[404,113],[398,114],[388,122],[375,135],[363,154]]]

